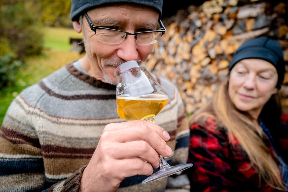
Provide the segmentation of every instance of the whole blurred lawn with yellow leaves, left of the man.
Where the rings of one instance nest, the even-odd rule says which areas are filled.
[[[44,47],[42,55],[28,58],[25,67],[16,75],[14,86],[0,91],[0,125],[13,99],[26,87],[37,83],[53,71],[81,58],[78,52],[70,51],[69,38],[82,38],[73,29],[44,28]]]

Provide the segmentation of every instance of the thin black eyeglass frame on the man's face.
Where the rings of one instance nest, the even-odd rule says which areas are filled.
[[[128,35],[134,35],[135,39],[137,40],[137,35],[138,35],[138,34],[141,34],[141,33],[162,32],[162,34],[161,34],[161,37],[162,37],[162,35],[164,35],[164,33],[166,32],[166,28],[165,28],[163,22],[161,21],[161,19],[158,20],[158,22],[159,22],[159,24],[160,24],[161,30],[129,33],[129,32],[121,31],[121,30],[118,30],[118,29],[109,29],[109,28],[105,28],[105,27],[95,27],[94,24],[93,24],[93,23],[91,22],[91,20],[89,19],[87,13],[84,13],[84,16],[85,16],[85,18],[86,18],[86,20],[87,20],[87,22],[88,22],[88,24],[89,24],[89,26],[90,26],[90,29],[91,29],[92,31],[94,31],[95,34],[96,34],[96,30],[97,30],[97,29],[108,29],[108,30],[112,30],[112,31],[123,32],[123,33],[126,34],[124,40],[126,39],[126,37],[127,37]],[[124,40],[123,40],[123,41],[124,41]],[[123,42],[123,41],[122,41],[122,42]],[[122,43],[122,42],[121,42],[121,43]],[[119,44],[120,44],[120,43],[119,43]]]

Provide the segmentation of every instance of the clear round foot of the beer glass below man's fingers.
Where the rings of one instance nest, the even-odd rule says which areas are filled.
[[[192,166],[193,164],[189,163],[189,164],[180,164],[180,165],[175,165],[175,166],[167,165],[165,167],[160,167],[160,170],[158,170],[156,173],[154,173],[153,175],[143,180],[142,184],[157,181],[159,179],[173,175],[179,171],[188,169],[189,167],[192,167]]]

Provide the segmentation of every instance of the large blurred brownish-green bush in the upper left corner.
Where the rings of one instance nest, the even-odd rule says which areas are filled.
[[[0,18],[0,56],[14,52],[16,58],[24,60],[28,55],[41,53],[43,35],[37,17],[27,9],[23,1],[2,4]]]

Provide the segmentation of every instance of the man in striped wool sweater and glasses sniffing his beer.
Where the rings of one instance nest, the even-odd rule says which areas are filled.
[[[187,160],[180,94],[158,79],[168,103],[155,124],[125,122],[116,112],[114,77],[121,63],[145,61],[152,52],[165,29],[161,11],[162,1],[72,0],[85,56],[26,88],[10,105],[0,130],[0,190],[164,190],[167,178],[141,182],[159,167],[158,153],[171,156],[170,164]]]

